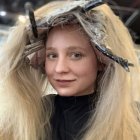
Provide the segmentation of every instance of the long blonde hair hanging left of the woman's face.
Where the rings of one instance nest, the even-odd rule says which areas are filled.
[[[0,140],[44,140],[50,135],[51,106],[49,100],[46,108],[42,103],[45,77],[21,61],[26,39],[25,25],[18,25],[1,50]]]

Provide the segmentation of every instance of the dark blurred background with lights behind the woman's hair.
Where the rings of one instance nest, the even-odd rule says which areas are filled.
[[[8,35],[9,27],[18,19],[24,20],[26,2],[34,9],[49,2],[49,0],[0,0],[0,46]],[[114,12],[120,16],[129,28],[137,48],[140,48],[140,0],[108,0]]]

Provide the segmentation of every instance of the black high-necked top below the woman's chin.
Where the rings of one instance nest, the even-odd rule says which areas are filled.
[[[79,140],[94,111],[96,99],[95,93],[78,97],[56,95],[51,119],[52,140]]]

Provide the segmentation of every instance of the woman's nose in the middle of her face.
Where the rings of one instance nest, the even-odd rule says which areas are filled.
[[[60,57],[57,59],[55,71],[57,73],[67,73],[69,72],[69,63],[66,58]]]

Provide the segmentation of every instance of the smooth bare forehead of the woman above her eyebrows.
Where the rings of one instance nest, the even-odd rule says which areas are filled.
[[[54,27],[48,34],[46,46],[89,46],[90,41],[79,25]]]

